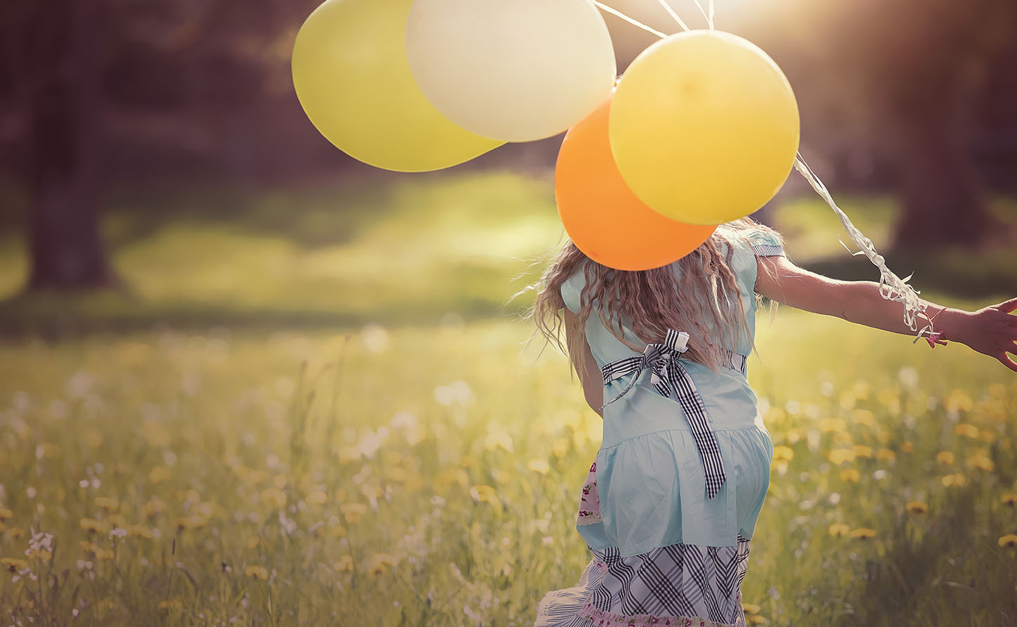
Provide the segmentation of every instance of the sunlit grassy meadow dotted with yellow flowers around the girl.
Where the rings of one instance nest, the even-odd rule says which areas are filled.
[[[128,295],[0,311],[0,622],[532,624],[587,561],[600,437],[503,307],[557,240],[548,189],[200,194],[241,206],[155,223],[119,199]],[[796,215],[810,258],[795,229],[822,227]],[[0,250],[13,292],[22,253]],[[776,455],[751,620],[1017,624],[1013,373],[791,310],[758,343]]]

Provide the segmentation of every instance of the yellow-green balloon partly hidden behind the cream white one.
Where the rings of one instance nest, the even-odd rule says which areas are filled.
[[[466,131],[434,110],[406,60],[412,0],[325,0],[293,46],[293,86],[328,141],[385,170],[425,172],[503,142]]]

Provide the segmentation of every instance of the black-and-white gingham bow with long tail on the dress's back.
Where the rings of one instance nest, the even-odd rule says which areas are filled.
[[[621,393],[604,403],[603,410],[615,400],[629,393],[629,390],[636,385],[639,373],[645,368],[651,371],[650,381],[654,388],[662,395],[670,397],[671,393],[677,397],[681,409],[685,413],[689,427],[696,440],[696,447],[703,457],[703,468],[706,471],[707,495],[712,499],[720,491],[726,476],[724,475],[724,461],[720,457],[720,447],[717,444],[717,436],[710,430],[710,417],[703,405],[703,397],[696,391],[696,384],[685,371],[685,367],[678,361],[678,357],[689,348],[689,333],[667,329],[667,335],[663,343],[647,344],[646,350],[640,357],[630,357],[616,362],[611,362],[601,369],[604,375],[604,384],[635,373],[629,381],[625,389]],[[744,362],[742,361],[742,367]],[[733,366],[732,366],[733,367]]]

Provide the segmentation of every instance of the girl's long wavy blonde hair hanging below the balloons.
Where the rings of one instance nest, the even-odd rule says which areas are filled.
[[[536,323],[534,334],[539,332],[548,342],[556,344],[577,367],[584,363],[584,329],[595,311],[605,328],[638,353],[647,343],[663,340],[669,328],[687,331],[685,357],[717,370],[724,362],[725,352],[734,350],[739,333],[751,338],[734,271],[720,250],[721,242],[730,246],[735,239],[746,239],[750,230],[762,230],[782,241],[776,231],[750,217],[725,223],[699,248],[675,262],[677,272],[669,265],[650,270],[616,270],[590,259],[566,240],[540,280],[529,288],[537,292],[528,315]],[[586,285],[580,295],[575,326],[567,329],[567,340],[563,343],[565,304],[561,284],[581,267]],[[642,343],[626,337],[622,324]]]

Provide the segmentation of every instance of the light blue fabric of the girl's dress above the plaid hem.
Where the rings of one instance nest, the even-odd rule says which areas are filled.
[[[781,255],[780,241],[764,231],[742,232],[721,245],[737,279],[749,331],[755,336],[757,256]],[[676,263],[669,266],[678,270]],[[580,309],[582,268],[561,287],[565,306]],[[596,305],[596,304],[595,304]],[[632,330],[623,332],[635,342]],[[682,330],[682,329],[676,329]],[[597,364],[638,357],[591,314],[586,338]],[[735,353],[747,355],[752,340],[741,333]],[[603,443],[594,464],[599,516],[577,529],[594,550],[616,548],[622,558],[676,543],[735,547],[751,540],[770,481],[773,444],[757,411],[757,398],[743,372],[710,368],[682,358],[716,434],[726,481],[712,499],[705,471],[681,405],[658,393],[644,370],[629,391],[604,407]],[[627,379],[604,386],[604,402],[624,389]],[[599,519],[598,519],[599,518]]]

